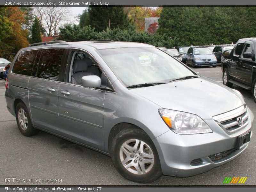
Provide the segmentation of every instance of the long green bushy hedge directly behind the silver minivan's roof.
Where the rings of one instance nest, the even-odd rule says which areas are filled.
[[[128,29],[115,28],[107,29],[101,32],[95,31],[91,26],[80,27],[78,25],[65,25],[60,28],[58,40],[64,41],[90,41],[110,39],[113,41],[126,41],[151,44],[157,47],[171,48],[177,44],[178,39],[170,39],[166,35],[149,34],[147,32],[138,32],[132,26]]]

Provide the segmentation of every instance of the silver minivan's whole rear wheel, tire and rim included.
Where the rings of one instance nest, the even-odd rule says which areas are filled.
[[[32,126],[28,109],[24,103],[18,103],[16,106],[16,121],[20,132],[25,136],[35,135],[39,131]]]

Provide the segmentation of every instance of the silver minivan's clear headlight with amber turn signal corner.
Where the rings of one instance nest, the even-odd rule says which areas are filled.
[[[165,124],[175,133],[198,134],[212,132],[204,120],[197,115],[163,108],[158,109],[158,112]]]

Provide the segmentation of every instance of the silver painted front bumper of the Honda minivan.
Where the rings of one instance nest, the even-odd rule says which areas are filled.
[[[232,135],[222,130],[213,119],[205,119],[212,133],[181,135],[170,130],[158,136],[153,141],[158,151],[163,174],[189,177],[235,159],[248,147],[247,145],[236,150],[239,135],[251,131],[252,137],[251,119],[246,127]],[[217,161],[213,159],[212,157],[217,154],[223,154],[223,158]]]

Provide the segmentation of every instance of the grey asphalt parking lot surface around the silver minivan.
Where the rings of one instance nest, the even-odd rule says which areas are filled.
[[[222,72],[219,66],[196,68],[195,71],[222,83]],[[234,89],[242,92],[247,105],[256,116],[256,103],[253,101],[251,92],[237,86],[234,86]],[[23,136],[18,130],[14,116],[6,109],[4,92],[4,81],[0,80],[0,185],[140,185],[119,175],[111,158],[99,152],[42,131],[33,137]],[[255,122],[253,130],[255,130]],[[162,176],[148,185],[222,185],[225,177],[248,177],[242,185],[255,185],[255,162],[256,134],[254,131],[251,143],[245,152],[228,164],[187,178]],[[62,179],[62,182],[6,183],[6,177],[34,180]]]

